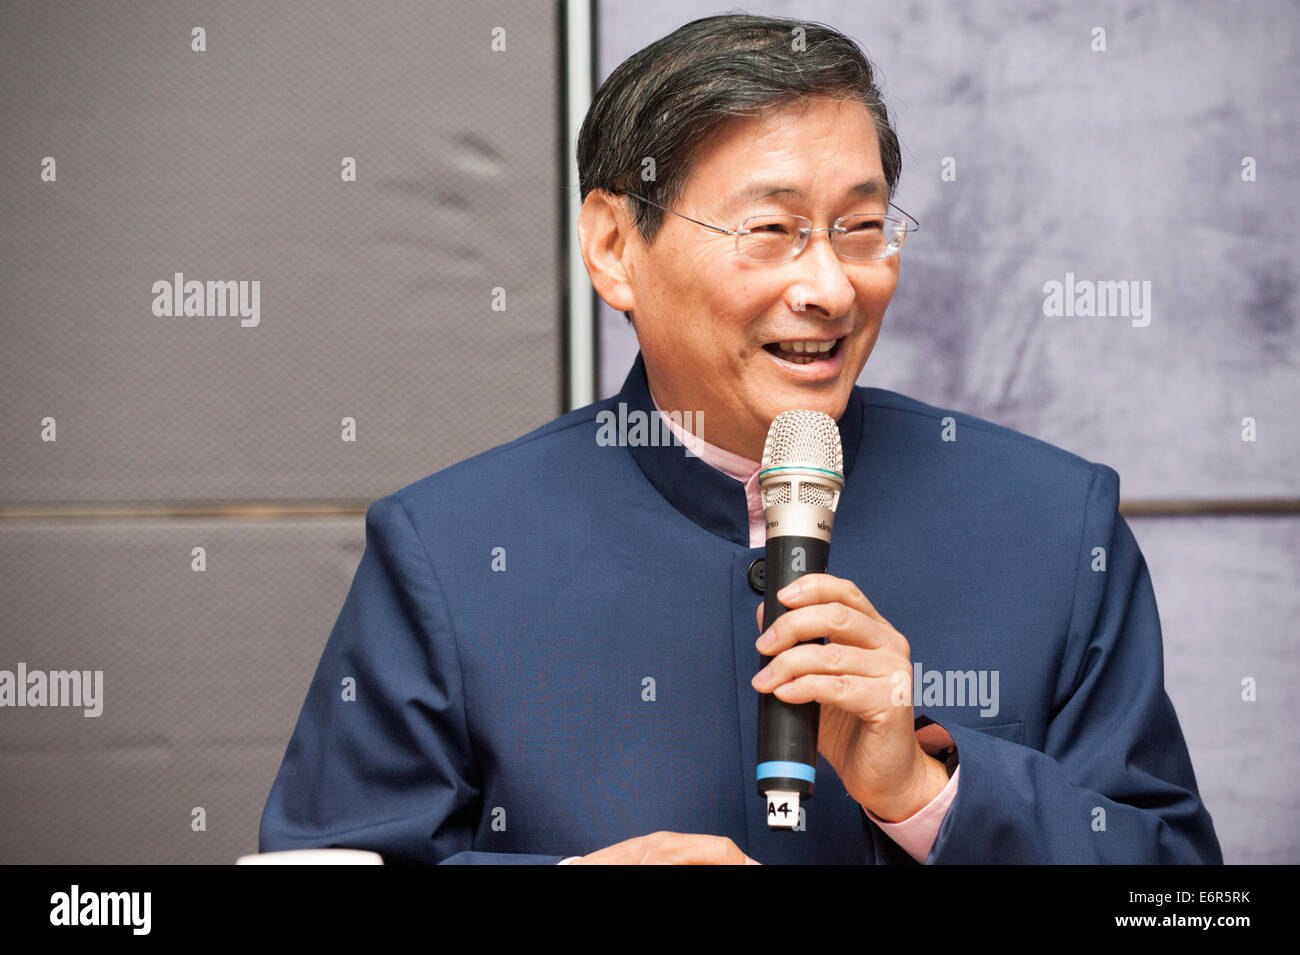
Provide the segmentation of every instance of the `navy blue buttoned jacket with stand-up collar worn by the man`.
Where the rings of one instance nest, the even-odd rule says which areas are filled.
[[[806,830],[767,828],[744,489],[680,446],[598,442],[619,401],[653,413],[640,355],[619,395],[369,507],[261,851],[555,863],[673,830],[914,864],[820,756]],[[828,573],[923,674],[997,673],[996,712],[915,700],[961,763],[927,861],[1221,863],[1115,472],[880,388],[838,426]]]

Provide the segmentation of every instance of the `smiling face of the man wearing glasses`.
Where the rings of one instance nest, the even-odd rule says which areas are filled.
[[[855,190],[872,182],[875,195]],[[757,196],[744,195],[755,187]],[[789,191],[762,196],[777,187]],[[820,229],[840,216],[888,212],[884,188],[867,108],[814,99],[722,129],[701,148],[673,208],[724,229],[770,213],[806,216]],[[828,233],[809,236],[794,259],[751,261],[736,252],[736,236],[668,213],[654,244],[636,235],[629,253],[634,327],[655,400],[664,411],[702,411],[701,437],[751,460],[780,412],[844,413],[900,268],[897,255],[841,260]],[[780,343],[828,340],[832,351],[807,364],[774,353]]]

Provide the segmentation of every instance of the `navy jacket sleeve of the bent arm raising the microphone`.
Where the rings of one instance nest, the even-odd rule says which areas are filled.
[[[945,725],[961,786],[928,863],[1223,861],[1165,693],[1150,576],[1118,503],[1119,476],[1093,465],[1043,752]]]

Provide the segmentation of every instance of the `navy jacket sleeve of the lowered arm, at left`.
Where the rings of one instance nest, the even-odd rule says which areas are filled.
[[[472,851],[481,809],[451,620],[396,496],[365,551],[261,817],[263,852],[368,848],[386,863],[558,863]]]

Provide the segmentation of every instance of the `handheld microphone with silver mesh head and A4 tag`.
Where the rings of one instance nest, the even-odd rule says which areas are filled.
[[[844,490],[844,451],[835,418],[788,411],[767,430],[758,472],[767,521],[763,554],[763,625],[786,607],[776,592],[803,574],[826,573],[831,526]],[[822,639],[826,642],[826,638]],[[800,798],[812,798],[822,704],[758,698],[758,794],[767,799],[767,825],[796,829]]]

